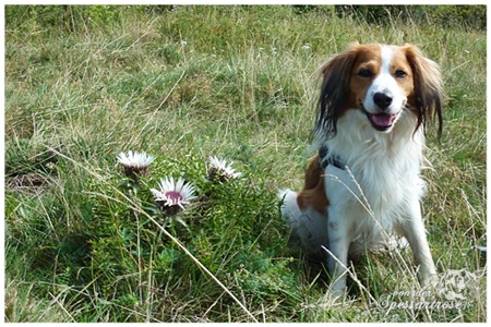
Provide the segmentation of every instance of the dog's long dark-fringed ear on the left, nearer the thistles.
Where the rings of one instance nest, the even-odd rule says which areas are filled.
[[[319,98],[316,133],[333,137],[336,123],[349,98],[349,77],[359,53],[359,44],[351,44],[343,53],[328,60],[322,68],[322,87]]]

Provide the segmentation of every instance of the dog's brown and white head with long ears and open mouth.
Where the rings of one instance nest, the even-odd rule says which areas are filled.
[[[330,137],[347,110],[359,110],[373,129],[390,133],[404,110],[416,132],[434,117],[442,130],[442,81],[433,61],[411,45],[354,44],[322,68],[318,132]]]

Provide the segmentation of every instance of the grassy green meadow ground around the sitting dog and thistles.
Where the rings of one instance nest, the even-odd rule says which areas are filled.
[[[331,7],[57,10],[7,9],[7,322],[487,319],[486,32]],[[419,289],[405,251],[357,264],[332,303],[289,244],[276,190],[301,186],[316,69],[355,40],[416,44],[442,66],[423,215],[439,272],[470,274],[463,307],[384,307],[416,299],[395,293]],[[140,187],[116,162],[130,149],[157,157]],[[214,155],[243,178],[209,182]],[[148,191],[168,175],[200,195],[179,219]]]

